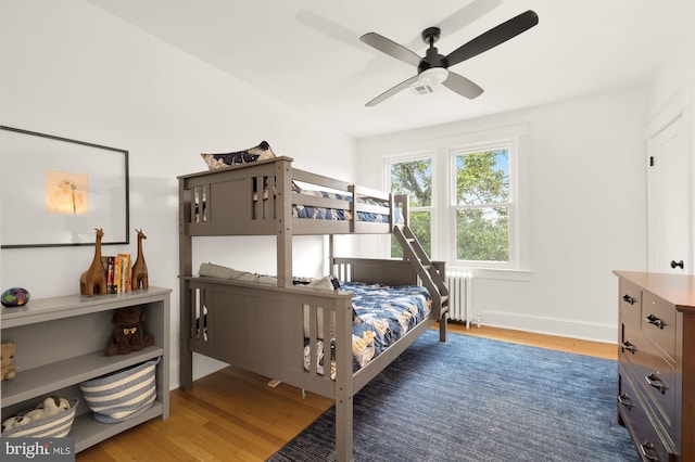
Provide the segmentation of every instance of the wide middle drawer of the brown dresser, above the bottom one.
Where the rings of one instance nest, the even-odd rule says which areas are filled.
[[[640,384],[654,413],[672,435],[675,418],[675,371],[639,330],[623,324],[622,336],[620,361],[631,365],[624,367],[624,370],[634,371],[634,382]]]

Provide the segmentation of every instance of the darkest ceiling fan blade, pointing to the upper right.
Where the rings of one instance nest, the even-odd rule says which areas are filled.
[[[518,36],[519,34],[530,29],[539,24],[539,15],[535,12],[529,10],[518,16],[513,17],[500,24],[497,27],[493,27],[486,33],[476,37],[466,44],[460,46],[458,49],[452,51],[447,56],[448,65],[453,66],[462,61],[466,61],[470,57],[477,56],[483,51],[488,51],[505,41]]]

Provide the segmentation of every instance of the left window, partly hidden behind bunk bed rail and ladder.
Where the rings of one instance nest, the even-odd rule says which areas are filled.
[[[408,195],[410,229],[428,255],[432,255],[432,158],[389,164],[391,192]],[[391,236],[391,256],[403,257],[401,244]]]

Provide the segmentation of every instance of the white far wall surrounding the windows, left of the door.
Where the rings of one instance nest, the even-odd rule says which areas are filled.
[[[611,270],[646,268],[646,113],[645,90],[626,90],[375,137],[358,149],[363,161],[379,162],[414,144],[525,127],[521,269],[529,272],[478,272],[473,311],[488,325],[615,343]],[[383,172],[364,181],[382,188]]]

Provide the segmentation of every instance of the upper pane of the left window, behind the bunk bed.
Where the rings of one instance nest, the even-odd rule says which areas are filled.
[[[391,192],[407,194],[412,207],[432,205],[432,161],[422,158],[391,164]]]

